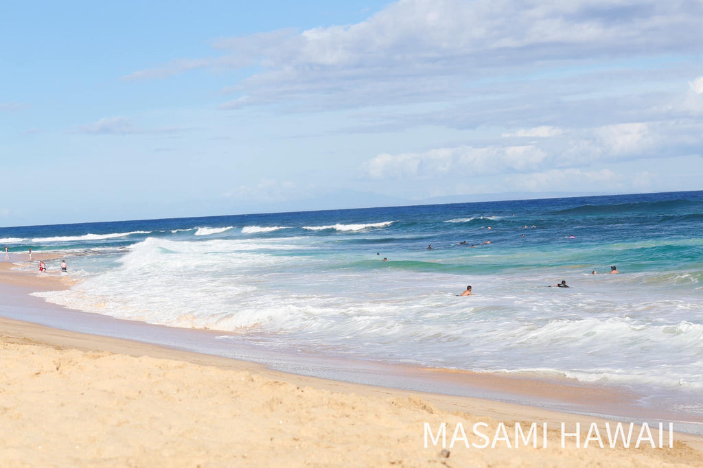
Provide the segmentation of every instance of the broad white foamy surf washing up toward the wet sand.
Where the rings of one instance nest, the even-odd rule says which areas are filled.
[[[370,272],[347,266],[354,254],[325,256],[320,245],[309,235],[148,238],[73,290],[39,295],[117,318],[237,332],[237,339],[266,346],[703,389],[703,301],[690,287],[673,299],[669,285],[643,288],[626,274],[586,275],[557,290],[546,285],[562,271],[546,268],[473,276]],[[466,284],[475,296],[456,297]]]

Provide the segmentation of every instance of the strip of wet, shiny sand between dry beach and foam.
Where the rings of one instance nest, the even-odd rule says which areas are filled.
[[[52,259],[61,258],[55,254]],[[63,275],[34,275],[14,271],[13,264],[0,261],[0,290],[12,297],[14,312],[0,312],[4,318],[21,320],[65,332],[79,332],[108,339],[129,339],[146,345],[174,351],[197,353],[199,356],[221,356],[262,366],[272,372],[332,380],[344,384],[361,384],[399,391],[420,391],[486,402],[524,405],[539,410],[590,415],[622,421],[677,421],[688,423],[685,433],[703,436],[703,417],[685,415],[654,406],[633,404],[645,394],[626,386],[603,386],[567,377],[507,375],[472,372],[420,365],[380,363],[345,356],[328,356],[304,352],[292,355],[285,351],[262,351],[242,342],[217,340],[223,331],[168,327],[139,320],[124,320],[98,313],[51,304],[40,297],[31,297],[38,290],[65,290],[73,284]],[[8,287],[11,290],[8,290]],[[37,312],[39,312],[37,315]],[[27,316],[25,314],[32,314]],[[115,351],[116,352],[116,351]]]

